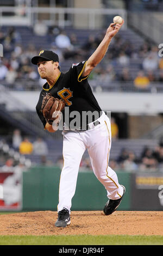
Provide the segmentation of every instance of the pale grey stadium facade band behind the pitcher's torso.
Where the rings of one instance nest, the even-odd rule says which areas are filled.
[[[10,92],[18,102],[35,111],[40,92]],[[129,114],[157,114],[162,113],[162,95],[149,93],[94,93],[102,109],[112,112],[126,112]],[[29,100],[27,100],[29,99]],[[10,111],[10,106],[8,106]],[[13,106],[11,110],[14,111]]]

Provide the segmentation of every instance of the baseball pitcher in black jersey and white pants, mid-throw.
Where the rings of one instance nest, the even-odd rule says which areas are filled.
[[[55,132],[63,120],[64,166],[60,175],[56,227],[66,227],[71,223],[71,202],[76,191],[79,164],[86,149],[93,172],[105,187],[109,199],[103,209],[105,215],[117,209],[125,193],[125,187],[119,184],[117,174],[109,167],[110,120],[98,105],[88,82],[90,72],[101,62],[111,39],[123,23],[111,23],[90,58],[73,63],[65,74],[60,71],[58,55],[52,51],[42,50],[39,56],[32,58],[40,77],[46,79],[36,106],[43,127]],[[67,108],[68,118],[65,114]],[[78,118],[74,118],[74,113]],[[92,119],[85,118],[84,113],[91,113]]]

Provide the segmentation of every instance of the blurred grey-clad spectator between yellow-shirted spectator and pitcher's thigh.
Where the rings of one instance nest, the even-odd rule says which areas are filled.
[[[33,153],[40,156],[46,156],[48,154],[47,144],[42,138],[37,138],[33,143]]]

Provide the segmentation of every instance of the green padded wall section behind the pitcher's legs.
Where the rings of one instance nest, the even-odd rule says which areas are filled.
[[[59,167],[33,167],[23,173],[23,210],[57,211],[61,170]],[[117,172],[126,194],[118,210],[130,210],[131,174]],[[71,210],[102,210],[108,200],[104,186],[92,171],[79,172]]]

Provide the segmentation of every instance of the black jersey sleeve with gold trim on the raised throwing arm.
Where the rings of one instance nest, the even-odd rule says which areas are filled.
[[[89,75],[87,76],[82,76],[82,73],[85,69],[85,64],[86,62],[83,61],[83,62],[80,62],[80,63],[73,63],[72,66],[71,66],[71,71],[73,73],[73,77],[74,79],[77,79],[78,82],[82,82],[83,80],[86,80],[87,77],[89,77]]]

